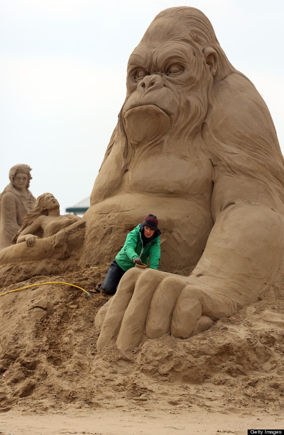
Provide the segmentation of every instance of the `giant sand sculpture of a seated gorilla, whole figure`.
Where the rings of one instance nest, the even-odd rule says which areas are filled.
[[[268,108],[207,17],[192,7],[159,13],[130,56],[126,100],[85,215],[83,261],[110,263],[126,232],[153,213],[167,272],[124,275],[97,315],[98,348],[117,337],[131,350],[144,333],[187,338],[255,302],[282,273],[283,170]],[[191,266],[187,277],[168,273]]]

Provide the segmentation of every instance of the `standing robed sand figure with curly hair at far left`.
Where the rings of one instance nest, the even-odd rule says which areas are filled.
[[[30,171],[28,165],[21,164],[9,171],[10,184],[0,195],[0,249],[11,245],[23,217],[34,206],[35,198],[28,190]]]

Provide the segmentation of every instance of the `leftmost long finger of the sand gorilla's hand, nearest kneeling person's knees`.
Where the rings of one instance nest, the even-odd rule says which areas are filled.
[[[98,350],[108,345],[118,333],[125,310],[132,298],[136,281],[142,273],[142,269],[135,267],[122,277],[116,294],[110,299],[111,303],[97,341]]]

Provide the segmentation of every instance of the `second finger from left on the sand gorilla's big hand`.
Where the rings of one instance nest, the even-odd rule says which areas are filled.
[[[164,276],[158,270],[146,269],[138,279],[117,338],[117,347],[122,352],[134,349],[142,341],[153,293]]]

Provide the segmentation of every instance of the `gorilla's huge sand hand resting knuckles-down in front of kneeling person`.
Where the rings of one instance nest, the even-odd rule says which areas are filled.
[[[97,348],[117,337],[118,348],[125,352],[139,346],[145,333],[148,338],[168,333],[188,338],[205,331],[214,320],[232,315],[236,304],[200,278],[135,267],[123,275],[106,308],[95,321],[101,327]]]

